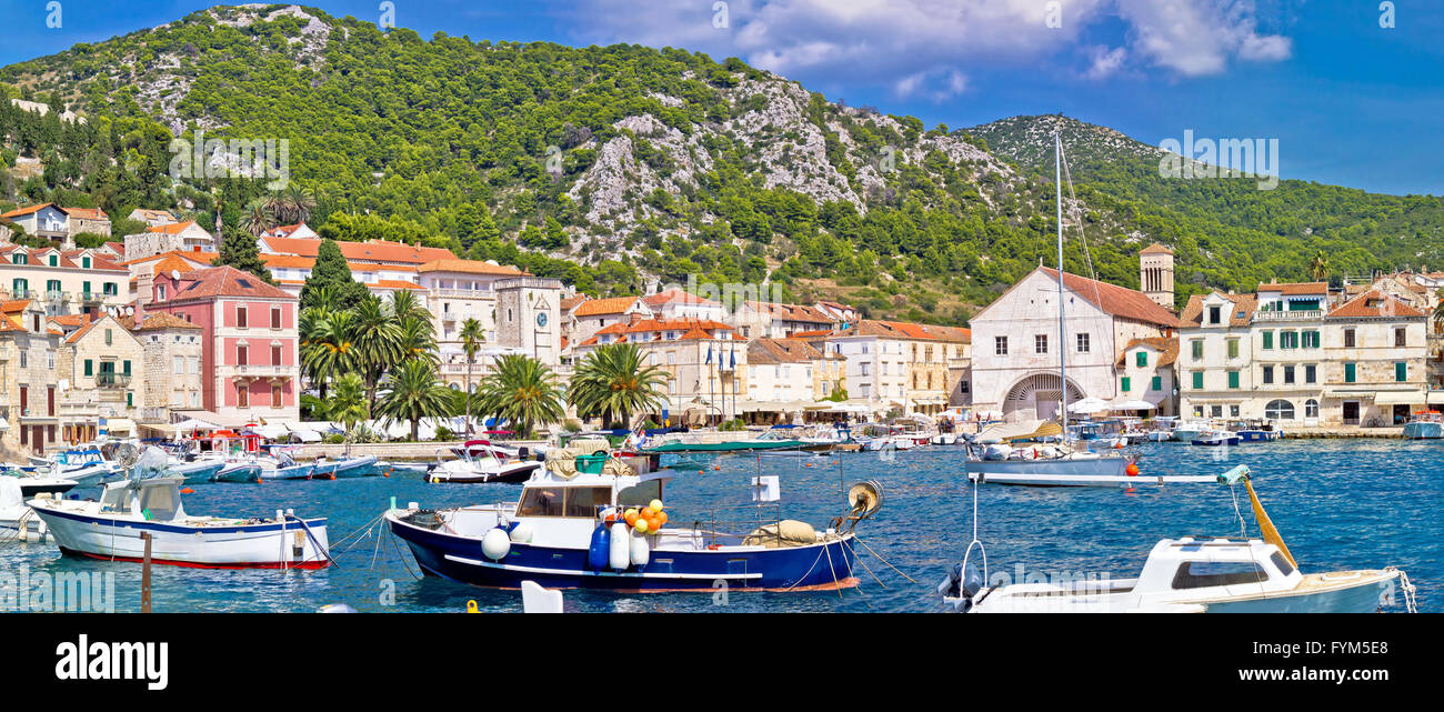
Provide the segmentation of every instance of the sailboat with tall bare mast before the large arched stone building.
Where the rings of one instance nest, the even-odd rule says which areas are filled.
[[[1053,134],[1054,188],[1057,189],[1058,220],[1058,344],[1067,344],[1067,316],[1063,293],[1063,137]],[[1058,350],[1058,383],[1061,390],[1060,419],[1069,413],[1067,350]],[[1138,458],[1125,456],[1121,449],[1093,452],[1070,439],[1058,423],[1044,423],[1037,432],[1017,439],[1057,439],[1057,445],[1012,446],[1006,442],[975,442],[967,448],[967,477],[976,482],[1032,487],[1108,487],[1135,482],[1164,484],[1177,481],[1209,481],[1207,477],[1138,477]]]

